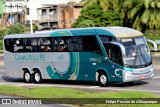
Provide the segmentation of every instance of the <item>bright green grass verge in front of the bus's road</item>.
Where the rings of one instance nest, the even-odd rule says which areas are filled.
[[[1,95],[12,95],[25,98],[156,98],[146,92],[96,92],[89,93],[67,88],[25,88],[16,86],[0,86]],[[86,99],[87,100],[87,99]],[[49,100],[51,101],[51,99]],[[94,101],[93,101],[94,102]],[[159,104],[78,104],[85,107],[159,107]]]

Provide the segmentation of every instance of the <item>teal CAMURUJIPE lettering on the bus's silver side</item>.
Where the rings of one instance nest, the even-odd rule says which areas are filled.
[[[16,61],[45,61],[45,54],[16,54]]]

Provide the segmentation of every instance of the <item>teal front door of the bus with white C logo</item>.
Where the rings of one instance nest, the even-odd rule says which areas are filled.
[[[122,66],[123,66],[123,49],[120,44],[117,43],[109,43],[106,51],[109,60],[109,72],[110,79],[113,82],[121,82],[122,81]]]

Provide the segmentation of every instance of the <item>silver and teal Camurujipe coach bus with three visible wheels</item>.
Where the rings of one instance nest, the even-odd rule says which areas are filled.
[[[6,75],[26,83],[54,79],[108,86],[153,77],[147,40],[132,28],[57,29],[7,35],[3,42]]]

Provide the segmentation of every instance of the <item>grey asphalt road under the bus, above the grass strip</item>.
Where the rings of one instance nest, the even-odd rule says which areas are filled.
[[[1,59],[1,58],[0,58]],[[100,91],[143,91],[155,93],[160,97],[160,56],[153,56],[154,77],[150,80],[135,81],[132,83],[112,84],[109,87],[100,87],[94,82],[53,81],[44,80],[43,84],[26,84],[21,79],[11,79],[4,75],[4,66],[0,66],[0,85],[14,85],[27,87],[61,87],[76,88],[89,92]]]

